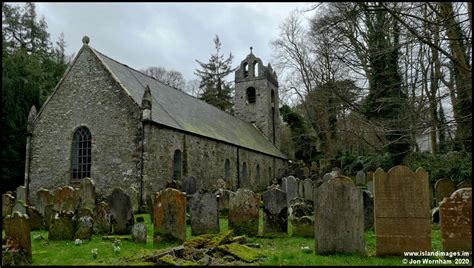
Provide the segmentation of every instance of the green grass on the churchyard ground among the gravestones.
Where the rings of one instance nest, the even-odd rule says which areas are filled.
[[[260,213],[259,230],[263,230],[263,215]],[[82,245],[76,246],[73,241],[47,241],[47,231],[32,231],[31,241],[33,248],[33,265],[153,265],[153,263],[143,262],[142,256],[153,254],[158,250],[174,247],[176,244],[153,245],[153,226],[148,214],[135,215],[143,216],[148,228],[148,239],[146,245],[135,244],[122,240],[121,251],[113,252],[113,241],[102,240],[102,236],[93,235],[92,240],[84,241]],[[228,230],[226,218],[220,218],[221,231]],[[291,235],[291,224],[289,224]],[[43,236],[45,240],[37,240],[35,237]],[[186,226],[186,237],[190,239],[191,228]],[[442,250],[439,225],[432,225],[432,250]],[[366,255],[316,255],[314,254],[314,238],[303,237],[281,237],[281,238],[261,238],[252,237],[248,243],[258,243],[261,251],[266,255],[257,263],[251,265],[404,265],[402,256],[376,257],[375,256],[375,234],[373,231],[365,232]],[[302,250],[308,247],[309,250]],[[91,250],[98,249],[96,259],[92,257]],[[472,262],[471,262],[472,263]]]

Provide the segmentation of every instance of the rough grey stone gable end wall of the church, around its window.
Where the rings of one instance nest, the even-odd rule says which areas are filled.
[[[71,144],[74,131],[92,134],[91,177],[99,194],[113,187],[139,186],[140,110],[85,47],[76,64],[35,123],[30,200],[40,187],[74,185]]]

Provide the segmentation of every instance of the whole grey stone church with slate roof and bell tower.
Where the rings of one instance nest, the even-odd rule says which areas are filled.
[[[171,179],[197,187],[266,189],[282,175],[278,81],[252,53],[235,72],[235,116],[83,46],[28,119],[25,185],[77,186],[100,195],[134,186],[142,200]]]

